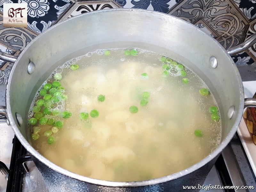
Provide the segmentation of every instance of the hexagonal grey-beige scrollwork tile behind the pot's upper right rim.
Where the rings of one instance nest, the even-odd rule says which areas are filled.
[[[195,24],[204,20],[224,48],[239,44],[246,21],[237,14],[233,4],[223,0],[188,0],[180,3],[169,14]]]

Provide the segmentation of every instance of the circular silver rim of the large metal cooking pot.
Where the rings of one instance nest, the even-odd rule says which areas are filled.
[[[112,12],[112,11],[118,11],[118,12],[127,12],[127,11],[136,11],[136,12],[151,12],[150,14],[161,14],[161,15],[166,15],[168,17],[174,17],[172,15],[166,14],[166,13],[161,13],[161,12],[156,12],[156,11],[150,11],[150,10],[143,10],[143,9],[128,9],[128,8],[117,8],[117,9],[107,9],[107,10],[98,10],[98,11],[93,11],[93,12],[87,12],[84,14],[80,14],[74,17],[71,17],[67,20],[76,20],[76,18],[78,17],[84,17],[84,15],[91,15],[91,14],[98,14],[98,12]],[[42,156],[39,152],[37,152],[30,144],[29,142],[23,137],[23,135],[21,134],[21,132],[19,131],[18,127],[16,126],[16,120],[13,118],[12,111],[10,108],[10,80],[13,78],[13,73],[15,71],[16,66],[19,63],[20,58],[22,57],[23,53],[26,52],[28,50],[28,47],[35,42],[38,38],[40,38],[42,36],[42,34],[44,33],[50,33],[52,28],[56,28],[59,25],[61,25],[62,23],[64,23],[67,20],[61,21],[60,23],[52,26],[51,28],[47,29],[46,31],[44,31],[43,33],[41,33],[40,35],[38,35],[35,39],[33,39],[26,47],[25,49],[21,52],[20,56],[18,57],[18,59],[16,60],[16,62],[13,65],[13,68],[11,70],[9,79],[8,79],[8,83],[6,86],[6,110],[7,110],[7,116],[8,116],[8,120],[10,122],[10,125],[12,126],[12,129],[15,133],[15,135],[17,136],[17,138],[19,139],[19,141],[21,142],[21,144],[27,149],[27,151],[34,156],[35,158],[37,158],[40,162],[42,162],[43,164],[47,165],[48,167],[50,167],[52,170],[59,172],[63,175],[67,175],[68,177],[71,177],[73,179],[76,180],[81,180],[84,182],[88,182],[88,183],[92,183],[92,184],[96,184],[96,185],[101,185],[101,186],[109,186],[109,187],[137,187],[137,186],[147,186],[147,185],[154,185],[154,184],[159,184],[159,183],[163,183],[169,180],[174,180],[177,178],[180,178],[184,175],[187,175],[191,172],[194,172],[195,170],[201,168],[202,166],[204,166],[205,164],[207,164],[208,162],[210,162],[214,157],[218,156],[221,151],[228,145],[228,143],[230,142],[230,140],[233,138],[238,125],[241,121],[242,118],[242,114],[243,114],[243,109],[244,109],[244,89],[243,89],[243,84],[242,84],[242,79],[240,76],[240,73],[238,71],[238,69],[236,68],[236,65],[234,63],[234,61],[232,60],[232,58],[228,55],[228,52],[219,44],[218,41],[216,41],[214,38],[212,38],[212,36],[208,35],[207,33],[205,33],[204,31],[202,31],[201,29],[197,28],[195,25],[188,23],[185,20],[179,19],[177,17],[175,17],[176,19],[180,20],[180,22],[185,22],[187,23],[187,25],[190,25],[191,28],[196,28],[199,32],[204,33],[204,35],[209,36],[209,39],[212,39],[213,42],[215,42],[215,44],[218,44],[220,49],[222,49],[223,54],[226,54],[228,56],[228,59],[230,60],[230,64],[233,65],[235,73],[236,73],[236,77],[238,78],[238,85],[239,85],[239,90],[240,90],[240,103],[239,103],[239,109],[237,110],[237,116],[239,118],[237,118],[234,122],[234,125],[232,127],[232,129],[230,130],[230,132],[228,133],[228,136],[220,143],[220,145],[214,150],[212,151],[211,154],[209,154],[208,156],[206,156],[204,159],[202,159],[201,161],[199,161],[198,163],[188,167],[187,169],[184,169],[180,172],[176,172],[173,173],[171,175],[167,175],[164,177],[160,177],[160,178],[156,178],[156,179],[151,179],[151,180],[142,180],[142,181],[129,181],[129,182],[117,182],[117,181],[106,181],[106,180],[98,180],[98,179],[92,179],[89,177],[85,177],[73,172],[70,172],[64,168],[61,168],[55,164],[53,164],[51,161],[49,161],[48,159],[46,159],[44,156]],[[240,118],[241,117],[241,118]]]

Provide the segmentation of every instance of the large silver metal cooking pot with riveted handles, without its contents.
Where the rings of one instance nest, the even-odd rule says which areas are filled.
[[[253,43],[252,39],[249,42]],[[220,109],[223,126],[220,146],[186,170],[136,182],[87,178],[56,166],[40,155],[29,144],[27,131],[28,109],[38,88],[66,60],[92,49],[117,47],[139,47],[168,55],[196,72],[209,86]],[[2,54],[2,57],[6,55]],[[256,100],[244,100],[242,80],[236,65],[228,52],[211,36],[167,14],[136,9],[109,9],[78,15],[37,36],[15,61],[7,84],[6,110],[2,107],[0,113],[8,118],[50,191],[151,192],[183,191],[182,186],[203,184],[222,149],[235,134],[244,106],[256,106]]]

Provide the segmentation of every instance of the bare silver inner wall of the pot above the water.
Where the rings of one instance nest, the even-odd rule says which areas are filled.
[[[7,85],[7,112],[15,134],[33,156],[50,163],[28,142],[27,116],[36,91],[52,71],[94,49],[128,47],[169,56],[200,76],[214,95],[222,119],[222,143],[212,153],[213,157],[228,144],[242,117],[244,95],[239,72],[223,47],[192,24],[170,15],[111,9],[79,15],[55,25],[36,37],[15,63]],[[211,67],[212,56],[217,60],[216,68]],[[32,74],[27,72],[30,61],[36,65]],[[230,106],[234,106],[231,119],[227,116]],[[23,124],[18,124],[16,113]],[[207,157],[199,166],[213,157]]]

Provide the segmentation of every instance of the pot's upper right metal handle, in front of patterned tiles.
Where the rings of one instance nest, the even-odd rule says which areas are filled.
[[[231,47],[227,50],[229,55],[236,55],[237,53],[243,52],[246,49],[250,48],[253,44],[256,43],[256,33],[247,38],[244,43]]]

